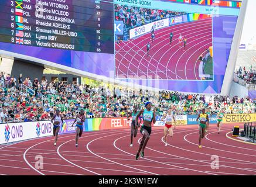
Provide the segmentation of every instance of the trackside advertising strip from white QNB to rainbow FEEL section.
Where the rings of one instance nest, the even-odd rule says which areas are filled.
[[[72,127],[73,122],[73,119],[64,120],[63,125],[60,125],[59,134],[76,133],[76,126]],[[86,119],[83,131],[125,129],[130,126],[131,120],[126,117],[93,118]],[[53,124],[49,120],[0,124],[0,144],[46,136],[53,136]]]

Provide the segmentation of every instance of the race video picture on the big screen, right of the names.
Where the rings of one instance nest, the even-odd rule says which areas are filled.
[[[127,41],[115,42],[117,78],[213,80],[212,15],[124,5],[115,12],[131,28]]]

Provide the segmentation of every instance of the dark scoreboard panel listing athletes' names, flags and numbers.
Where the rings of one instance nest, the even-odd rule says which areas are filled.
[[[91,0],[0,1],[0,41],[114,53],[113,8]]]

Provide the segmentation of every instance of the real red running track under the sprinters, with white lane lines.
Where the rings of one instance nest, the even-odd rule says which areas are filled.
[[[135,160],[138,141],[129,147],[129,129],[84,133],[75,147],[74,134],[0,146],[0,175],[256,175],[256,148],[226,137],[233,125],[225,124],[221,134],[216,125],[197,146],[197,126],[179,126],[169,145],[162,141],[163,127],[152,130],[145,158]],[[243,125],[241,124],[241,127]],[[35,168],[36,155],[43,156],[43,169]],[[219,169],[211,169],[211,156],[219,156]]]

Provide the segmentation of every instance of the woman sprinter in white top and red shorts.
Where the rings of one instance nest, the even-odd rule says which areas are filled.
[[[164,136],[163,136],[163,140],[165,141],[165,146],[168,146],[168,143],[167,143],[167,132],[169,130],[169,135],[170,137],[173,136],[173,129],[172,129],[172,120],[174,121],[174,130],[176,129],[176,121],[175,121],[175,118],[173,116],[173,113],[172,113],[172,109],[168,109],[167,113],[165,115],[163,115],[163,117],[161,118],[161,121],[163,121],[163,119],[166,119],[165,120],[165,128],[163,130],[163,133],[164,133]]]

